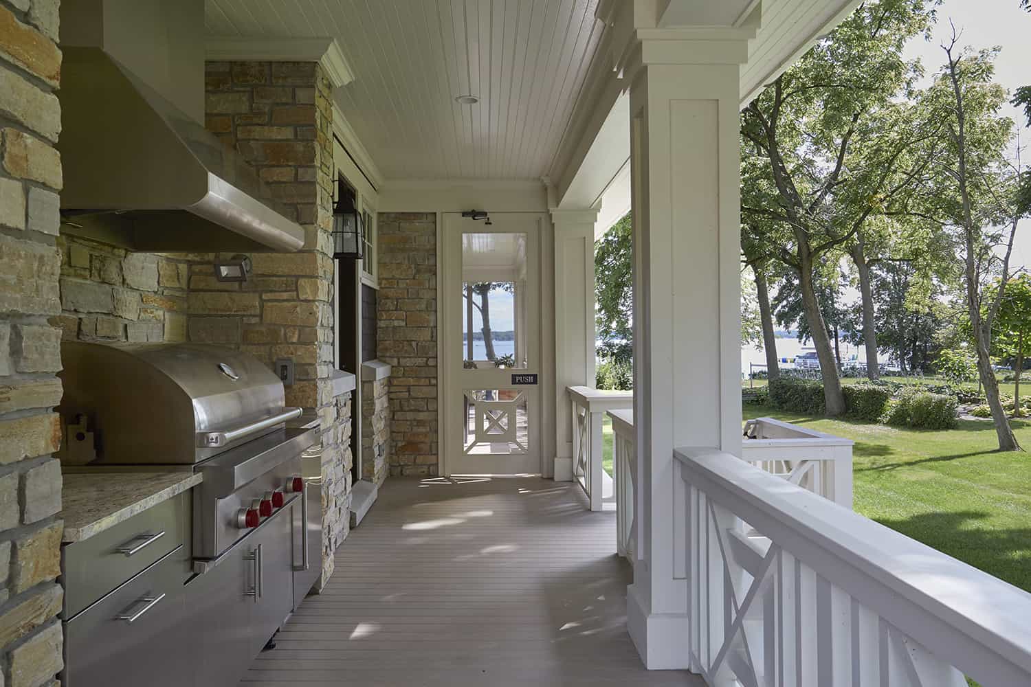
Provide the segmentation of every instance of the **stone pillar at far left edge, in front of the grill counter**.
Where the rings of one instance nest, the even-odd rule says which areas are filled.
[[[56,685],[61,622],[57,0],[0,0],[0,684]]]

